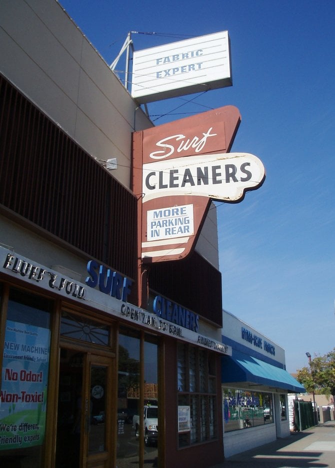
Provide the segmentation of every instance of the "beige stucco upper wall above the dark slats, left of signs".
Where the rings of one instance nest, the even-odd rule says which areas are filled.
[[[1,0],[0,72],[129,187],[131,132],[152,126],[55,0]]]

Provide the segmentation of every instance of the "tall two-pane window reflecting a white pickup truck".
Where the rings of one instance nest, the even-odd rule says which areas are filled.
[[[118,339],[116,465],[139,466],[140,425],[143,425],[143,463],[157,467],[158,458],[158,345],[155,337],[120,329]],[[143,366],[140,364],[140,348]],[[143,374],[141,373],[143,369]],[[140,404],[140,386],[143,404]]]

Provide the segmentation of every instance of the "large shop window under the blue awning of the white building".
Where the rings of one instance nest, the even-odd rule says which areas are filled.
[[[273,423],[270,393],[222,389],[222,394],[224,432]]]

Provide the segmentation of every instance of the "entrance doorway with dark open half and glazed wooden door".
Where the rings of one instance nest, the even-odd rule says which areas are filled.
[[[114,358],[63,350],[59,371],[56,468],[111,468]]]

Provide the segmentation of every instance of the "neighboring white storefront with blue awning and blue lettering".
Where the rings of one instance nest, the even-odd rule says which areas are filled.
[[[289,435],[288,393],[303,387],[285,370],[284,350],[237,317],[223,311],[222,357],[224,456]]]

